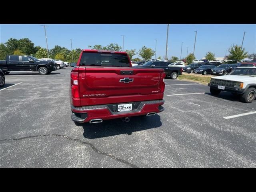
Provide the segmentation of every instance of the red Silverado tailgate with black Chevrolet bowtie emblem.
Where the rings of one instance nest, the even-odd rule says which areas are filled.
[[[81,106],[163,97],[163,69],[80,66],[78,71]]]

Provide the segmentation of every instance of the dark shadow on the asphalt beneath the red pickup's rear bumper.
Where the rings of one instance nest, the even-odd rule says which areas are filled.
[[[119,119],[105,120],[102,123],[81,124],[84,128],[84,137],[88,139],[102,138],[120,134],[131,135],[132,132],[158,128],[162,126],[160,116],[134,116],[130,118],[130,122],[122,122]]]

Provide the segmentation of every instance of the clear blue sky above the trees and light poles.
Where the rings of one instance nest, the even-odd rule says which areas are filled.
[[[86,49],[88,45],[117,43],[124,49],[136,49],[142,46],[155,50],[156,57],[165,55],[166,24],[46,24],[48,48],[60,45],[71,50],[72,47]],[[44,28],[40,24],[1,24],[0,42],[9,38],[29,38],[36,46],[46,48]],[[181,43],[182,58],[193,52],[195,30],[197,30],[195,56],[201,59],[206,52],[215,53],[216,57],[224,57],[226,49],[231,44],[242,44],[244,31],[246,31],[243,47],[246,51],[256,53],[256,25],[255,24],[170,24],[168,36],[167,56],[180,58]],[[137,57],[138,55],[134,56]]]

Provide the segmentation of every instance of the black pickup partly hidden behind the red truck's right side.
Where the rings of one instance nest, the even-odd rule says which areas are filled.
[[[179,75],[182,74],[182,67],[178,66],[168,66],[171,62],[164,61],[149,61],[143,65],[135,66],[135,67],[146,67],[146,68],[161,68],[164,69],[164,73],[166,76],[170,76],[171,79],[176,79]]]

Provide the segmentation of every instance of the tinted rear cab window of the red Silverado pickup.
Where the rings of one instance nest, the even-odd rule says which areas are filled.
[[[127,54],[83,52],[80,66],[130,67]]]

